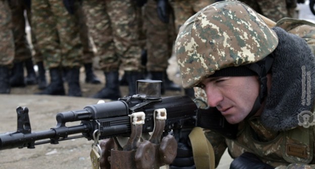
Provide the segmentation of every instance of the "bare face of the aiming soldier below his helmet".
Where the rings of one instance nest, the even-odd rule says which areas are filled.
[[[208,106],[216,107],[231,124],[245,119],[259,93],[257,76],[209,77],[201,83]]]

